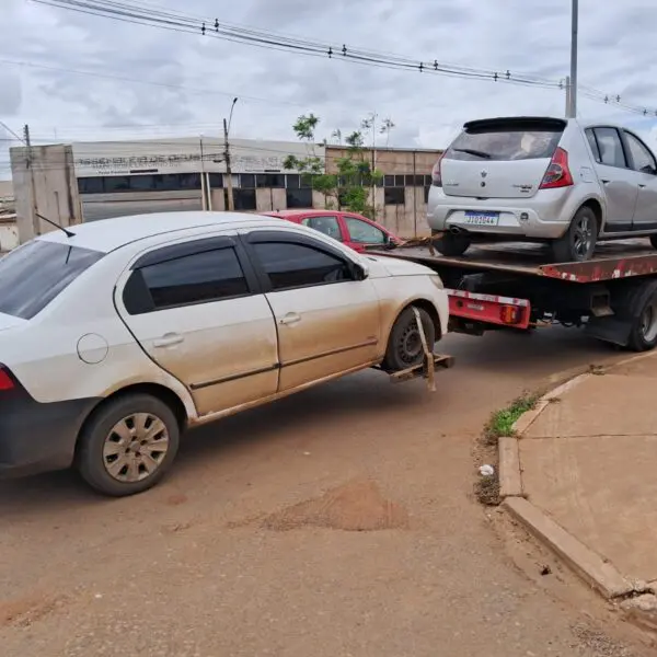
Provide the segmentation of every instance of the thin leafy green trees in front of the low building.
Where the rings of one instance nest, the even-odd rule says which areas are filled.
[[[368,161],[362,131],[355,130],[345,137],[346,153],[335,162],[337,173],[325,173],[325,163],[315,150],[319,123],[314,114],[297,119],[292,128],[299,140],[306,142],[307,154],[304,158],[288,155],[284,166],[299,171],[304,183],[324,196],[326,209],[337,207],[374,218],[376,208],[373,203],[369,203],[369,191],[382,180],[383,174]],[[342,141],[342,131],[334,130],[332,138]]]

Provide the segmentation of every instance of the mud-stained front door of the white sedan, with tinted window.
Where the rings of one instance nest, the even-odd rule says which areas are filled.
[[[279,391],[367,367],[382,353],[379,298],[339,251],[306,235],[247,235],[278,328]]]

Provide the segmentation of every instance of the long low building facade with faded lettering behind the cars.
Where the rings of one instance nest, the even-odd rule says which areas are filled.
[[[50,147],[46,147],[50,148]],[[53,147],[54,148],[54,147]],[[336,173],[339,146],[312,146],[312,154]],[[72,145],[74,175],[85,221],[168,210],[223,210],[228,173],[223,140],[208,137]],[[286,170],[288,155],[304,158],[306,143],[231,139],[234,207],[242,211],[324,208],[326,199],[308,176]],[[430,172],[440,151],[377,149],[365,157],[384,175],[370,193],[377,220],[403,237],[426,234]]]

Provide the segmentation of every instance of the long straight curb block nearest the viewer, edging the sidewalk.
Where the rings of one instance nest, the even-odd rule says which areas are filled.
[[[609,562],[580,543],[533,504],[522,497],[508,497],[505,508],[539,540],[543,541],[570,568],[607,598],[632,593],[634,585],[625,579]]]

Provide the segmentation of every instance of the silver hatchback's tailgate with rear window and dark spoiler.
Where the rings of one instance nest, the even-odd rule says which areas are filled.
[[[557,118],[466,123],[440,162],[445,194],[475,198],[533,196],[566,125]]]

